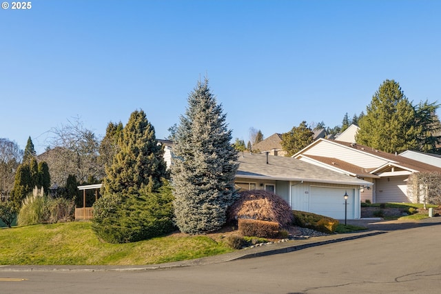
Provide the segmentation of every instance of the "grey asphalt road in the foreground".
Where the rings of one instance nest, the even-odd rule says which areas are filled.
[[[433,225],[203,266],[0,272],[0,293],[441,293],[440,244]]]

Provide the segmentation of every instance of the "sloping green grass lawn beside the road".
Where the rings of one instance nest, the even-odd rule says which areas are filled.
[[[141,265],[233,251],[208,236],[183,234],[127,243],[101,242],[90,222],[0,229],[0,264]]]

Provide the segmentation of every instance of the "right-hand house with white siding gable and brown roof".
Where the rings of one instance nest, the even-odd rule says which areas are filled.
[[[407,195],[407,179],[412,173],[441,171],[400,155],[385,153],[374,148],[349,143],[318,139],[294,156],[338,173],[365,179],[373,189],[362,189],[361,200],[371,202],[416,202]]]

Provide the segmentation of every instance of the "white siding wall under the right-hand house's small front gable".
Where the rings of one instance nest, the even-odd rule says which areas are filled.
[[[411,202],[407,197],[407,176],[383,177],[376,180],[376,202]]]

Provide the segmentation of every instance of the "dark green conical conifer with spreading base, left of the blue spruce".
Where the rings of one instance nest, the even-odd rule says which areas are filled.
[[[123,243],[170,232],[172,193],[166,168],[153,126],[142,110],[132,112],[119,138],[119,153],[106,168],[103,197],[93,206],[95,233],[107,242]]]

